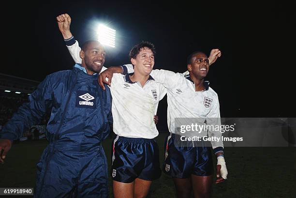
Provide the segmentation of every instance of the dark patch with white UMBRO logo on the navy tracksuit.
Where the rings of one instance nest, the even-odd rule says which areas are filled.
[[[77,91],[76,107],[80,108],[95,108],[95,99],[93,93],[89,91]],[[93,100],[93,101],[92,101]]]

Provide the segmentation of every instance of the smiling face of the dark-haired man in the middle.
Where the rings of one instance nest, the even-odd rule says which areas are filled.
[[[135,59],[131,59],[134,72],[143,76],[150,75],[154,66],[154,53],[148,47],[141,48]]]

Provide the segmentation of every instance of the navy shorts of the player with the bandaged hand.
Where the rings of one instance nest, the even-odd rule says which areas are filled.
[[[163,172],[176,178],[189,178],[192,174],[209,176],[213,173],[212,147],[205,141],[188,145],[176,145],[180,138],[176,134],[169,134],[165,139]]]

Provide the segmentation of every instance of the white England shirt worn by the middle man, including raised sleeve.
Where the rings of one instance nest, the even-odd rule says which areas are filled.
[[[76,41],[67,46],[75,62],[81,63],[81,48]],[[102,68],[104,71],[106,68]],[[161,83],[150,76],[142,87],[139,82],[133,83],[130,75],[114,74],[112,85],[113,131],[118,136],[152,139],[158,136],[154,123],[159,101],[166,94]]]

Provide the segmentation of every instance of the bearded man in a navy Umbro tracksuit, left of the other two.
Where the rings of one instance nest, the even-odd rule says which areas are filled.
[[[108,197],[101,142],[112,121],[111,95],[97,81],[105,61],[104,47],[88,41],[80,57],[81,65],[48,75],[0,132],[3,163],[12,141],[51,112],[46,132],[49,145],[37,164],[36,198]]]

